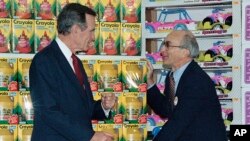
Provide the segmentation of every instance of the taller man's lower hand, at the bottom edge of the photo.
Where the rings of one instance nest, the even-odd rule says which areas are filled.
[[[96,131],[90,141],[113,141],[114,136],[107,132]]]

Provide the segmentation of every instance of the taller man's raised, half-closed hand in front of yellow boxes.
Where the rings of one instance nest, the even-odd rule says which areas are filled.
[[[114,108],[116,102],[115,94],[113,93],[102,93],[102,106],[105,110]]]

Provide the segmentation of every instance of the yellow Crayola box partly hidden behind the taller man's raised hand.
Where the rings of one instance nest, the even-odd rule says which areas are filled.
[[[123,116],[121,114],[121,100],[122,100],[121,92],[94,92],[93,97],[94,97],[94,100],[96,101],[107,100],[110,98],[115,99],[115,104],[111,109],[109,119],[105,120],[104,123],[121,124],[123,122]]]

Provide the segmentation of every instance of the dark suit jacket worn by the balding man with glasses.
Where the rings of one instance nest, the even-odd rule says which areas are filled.
[[[226,128],[214,83],[202,68],[192,61],[180,78],[175,96],[178,103],[171,110],[168,79],[164,95],[156,86],[148,90],[147,102],[168,121],[154,141],[226,141]]]

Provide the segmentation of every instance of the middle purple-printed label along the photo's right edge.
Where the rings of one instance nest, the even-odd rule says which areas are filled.
[[[250,49],[245,50],[245,69],[244,69],[244,81],[246,84],[250,84]]]

